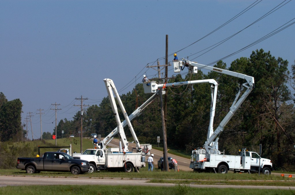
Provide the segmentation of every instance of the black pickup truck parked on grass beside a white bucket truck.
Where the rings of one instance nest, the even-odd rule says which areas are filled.
[[[45,152],[39,158],[18,158],[17,169],[26,170],[27,173],[40,173],[40,171],[57,171],[72,174],[88,172],[89,162],[86,160],[74,159],[64,152]]]

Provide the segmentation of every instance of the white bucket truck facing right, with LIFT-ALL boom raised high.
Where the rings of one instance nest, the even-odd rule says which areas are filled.
[[[185,67],[188,67],[191,73],[197,73],[198,69],[206,69],[210,71],[214,71],[217,73],[222,73],[226,75],[230,75],[233,77],[244,79],[246,82],[242,84],[239,92],[236,94],[235,100],[232,103],[232,106],[229,109],[229,112],[224,117],[224,119],[220,122],[219,126],[215,131],[213,131],[213,126],[209,124],[207,140],[203,146],[203,148],[195,149],[192,151],[191,155],[191,163],[190,168],[194,169],[194,171],[203,171],[203,170],[213,170],[216,173],[216,170],[219,173],[227,173],[228,170],[232,170],[235,172],[255,172],[258,171],[258,167],[260,166],[263,174],[271,174],[272,163],[269,159],[262,159],[255,152],[248,152],[245,149],[241,152],[240,156],[233,155],[225,155],[224,152],[220,152],[218,150],[218,139],[220,134],[222,133],[224,126],[230,121],[232,116],[235,114],[237,109],[242,105],[245,99],[248,97],[250,92],[254,87],[254,78],[252,76],[248,76],[241,73],[232,72],[229,70],[224,70],[221,68],[215,68],[207,65],[202,65],[197,62],[192,62],[189,60],[176,60],[173,61],[174,72],[178,73],[180,70],[183,70]],[[243,92],[243,89],[245,91]],[[243,92],[243,94],[242,94]],[[242,94],[242,95],[241,95]],[[253,163],[255,159],[262,159],[261,164],[257,164],[257,162]]]

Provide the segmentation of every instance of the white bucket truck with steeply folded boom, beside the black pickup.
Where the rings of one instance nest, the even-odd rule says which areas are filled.
[[[112,110],[114,112],[117,128],[113,130],[107,137],[113,138],[115,134],[119,134],[120,137],[120,147],[119,148],[108,148],[106,149],[106,140],[105,138],[100,142],[99,146],[96,146],[95,149],[86,149],[83,154],[73,154],[75,159],[87,160],[90,163],[89,172],[94,172],[95,170],[110,170],[110,169],[123,169],[125,172],[132,172],[133,168],[138,172],[138,168],[145,167],[145,154],[146,152],[152,149],[150,144],[140,145],[133,127],[131,125],[130,119],[124,109],[120,96],[117,92],[117,89],[114,85],[114,82],[111,79],[104,79],[106,89],[109,95],[111,102]],[[128,149],[128,141],[124,133],[123,125],[119,118],[119,113],[117,105],[114,99],[113,92],[116,95],[117,101],[120,105],[122,112],[124,113],[125,123],[128,124],[128,127],[131,131],[132,137],[136,143],[136,151],[132,152]],[[139,112],[136,112],[138,115]]]

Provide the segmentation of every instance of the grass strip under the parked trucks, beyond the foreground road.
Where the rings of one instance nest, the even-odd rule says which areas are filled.
[[[295,186],[295,178],[282,177],[277,175],[263,174],[238,174],[229,172],[228,174],[214,173],[196,173],[196,172],[161,172],[159,169],[154,169],[153,172],[148,172],[148,168],[139,169],[139,173],[131,172],[109,172],[100,171],[94,173],[85,173],[74,176],[70,172],[40,172],[33,176],[49,176],[49,177],[89,177],[89,178],[147,178],[153,183],[175,183],[183,184],[220,184],[220,185],[264,185],[264,186]],[[2,169],[1,175],[22,175],[28,176],[25,171],[18,169]]]

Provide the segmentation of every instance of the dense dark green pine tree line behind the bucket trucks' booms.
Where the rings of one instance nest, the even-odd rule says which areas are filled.
[[[269,51],[260,49],[253,51],[249,58],[241,57],[234,60],[230,66],[222,61],[214,65],[253,76],[255,79],[255,88],[219,137],[220,151],[237,155],[239,149],[247,148],[258,152],[259,144],[262,144],[262,156],[271,159],[274,168],[295,170],[294,94],[291,92],[295,86],[295,63],[291,65],[291,72],[288,70],[288,64],[287,60],[275,58]],[[168,82],[202,79],[214,79],[219,83],[214,117],[215,130],[229,112],[236,93],[245,81],[216,72],[205,74],[202,70],[198,70],[197,74],[187,74],[185,78],[176,75]],[[202,147],[207,138],[211,85],[207,83],[171,87],[166,88],[166,92],[168,93],[166,119],[168,147],[189,154],[191,150]],[[132,91],[120,97],[127,114],[130,115],[150,96],[151,94],[144,93],[142,84],[139,83]],[[2,102],[2,97],[0,98]],[[119,115],[123,121],[122,112],[119,111]],[[62,136],[62,130],[64,135],[79,136],[80,117],[79,111],[73,120],[60,120],[57,136]],[[141,144],[157,144],[157,136],[162,138],[163,135],[159,98],[148,105],[131,123]],[[91,133],[101,134],[104,137],[115,127],[117,124],[108,97],[104,97],[99,105],[88,107],[83,114],[84,137],[89,137]],[[128,127],[124,130],[128,141],[133,141]]]

